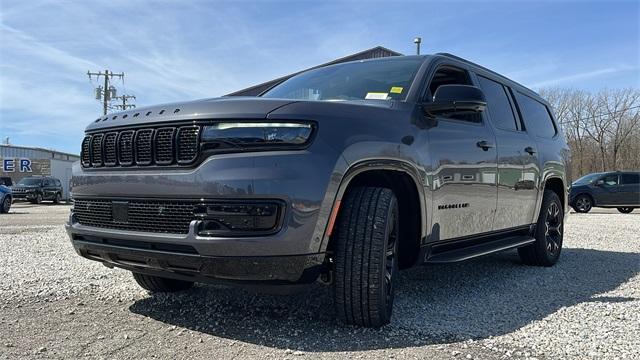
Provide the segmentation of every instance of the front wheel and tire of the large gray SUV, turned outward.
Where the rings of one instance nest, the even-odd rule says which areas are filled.
[[[398,201],[393,191],[357,187],[342,201],[335,233],[334,305],[353,325],[388,324],[398,273]]]

